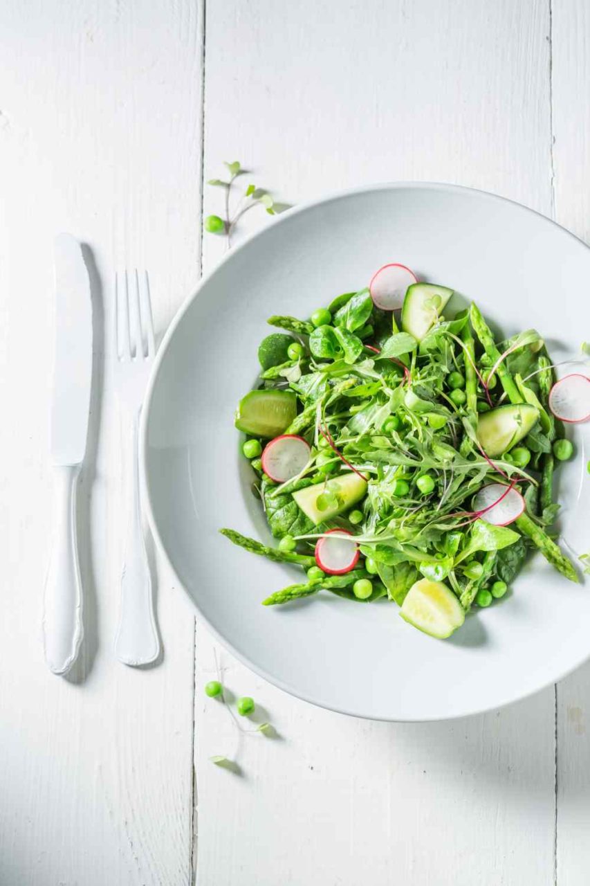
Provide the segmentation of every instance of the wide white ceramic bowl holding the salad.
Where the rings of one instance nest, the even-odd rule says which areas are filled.
[[[361,289],[387,261],[476,299],[505,335],[536,327],[555,359],[578,353],[590,334],[590,250],[523,206],[423,183],[302,206],[229,253],[167,331],[144,408],[148,506],[151,528],[200,615],[253,670],[336,711],[445,719],[515,701],[584,661],[590,588],[534,556],[512,595],[468,618],[451,640],[436,641],[388,602],[360,605],[322,593],[263,607],[300,571],[246,553],[218,532],[230,526],[270,540],[233,426],[237,401],[256,381],[267,317],[307,317],[339,292]],[[578,442],[576,459],[560,472],[562,526],[582,552],[590,548],[587,429],[568,432]]]

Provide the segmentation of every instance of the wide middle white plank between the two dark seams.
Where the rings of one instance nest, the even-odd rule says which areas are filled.
[[[240,159],[298,203],[434,179],[549,214],[548,12],[540,0],[207,4],[206,177]],[[220,201],[207,190],[206,212]],[[242,233],[266,221],[247,218]],[[207,237],[206,268],[221,252]],[[553,689],[455,723],[380,724],[300,703],[221,653],[229,687],[282,736],[236,748],[228,711],[203,695],[205,630],[197,653],[200,886],[554,882]],[[237,755],[241,776],[213,754]]]

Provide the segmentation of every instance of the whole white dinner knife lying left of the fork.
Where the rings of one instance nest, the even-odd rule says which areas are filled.
[[[43,641],[54,673],[65,674],[82,643],[82,582],[76,486],[86,452],[92,380],[92,301],[80,243],[55,239],[55,361],[50,455],[55,470],[53,547],[45,584]]]

